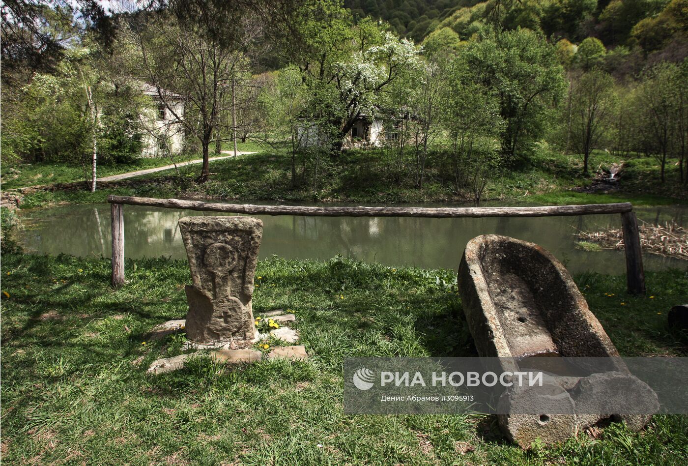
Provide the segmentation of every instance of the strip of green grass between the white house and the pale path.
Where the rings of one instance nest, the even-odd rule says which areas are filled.
[[[180,154],[175,156],[175,162],[199,158],[198,154]],[[166,157],[138,158],[132,163],[108,164],[98,166],[98,178],[118,175],[129,171],[171,165]],[[36,186],[39,184],[68,183],[90,179],[90,167],[85,171],[81,165],[71,165],[64,162],[39,162],[10,165],[3,163],[1,182],[3,189],[15,189]]]

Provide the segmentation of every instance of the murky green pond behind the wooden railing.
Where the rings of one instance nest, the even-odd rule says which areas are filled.
[[[434,206],[438,206],[435,204]],[[447,206],[449,206],[447,204]],[[452,204],[451,206],[457,206]],[[637,208],[646,222],[673,220],[686,226],[688,206]],[[125,206],[125,257],[186,258],[177,222],[214,212]],[[229,214],[231,215],[231,214]],[[582,251],[577,231],[619,227],[620,215],[546,218],[346,218],[257,215],[264,222],[260,257],[327,260],[334,255],[389,266],[458,268],[466,242],[486,233],[535,242],[572,272],[625,273],[623,251]],[[56,206],[19,211],[23,246],[57,255],[110,256],[109,204]],[[687,262],[646,253],[646,270],[685,268]]]

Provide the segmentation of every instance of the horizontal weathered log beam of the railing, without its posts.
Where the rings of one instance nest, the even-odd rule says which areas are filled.
[[[164,207],[245,213],[248,215],[303,215],[306,217],[559,217],[565,215],[593,215],[631,212],[630,202],[619,204],[583,204],[572,206],[534,207],[330,207],[330,206],[262,206],[254,204],[224,204],[181,199],[136,198],[109,195],[107,202],[137,206]]]

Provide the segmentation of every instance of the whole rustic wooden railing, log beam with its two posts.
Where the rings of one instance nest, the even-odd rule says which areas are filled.
[[[565,215],[598,215],[620,213],[626,253],[628,291],[645,293],[645,273],[641,254],[638,222],[630,202],[618,204],[584,204],[571,206],[535,207],[329,207],[329,206],[264,206],[254,204],[224,204],[180,199],[135,198],[109,195],[112,204],[112,285],[125,282],[124,204],[244,213],[248,215],[301,215],[307,217],[416,217],[416,218],[481,218],[481,217],[559,217]]]

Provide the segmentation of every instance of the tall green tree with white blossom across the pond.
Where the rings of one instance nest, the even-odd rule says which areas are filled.
[[[418,50],[384,24],[363,19],[354,25],[334,0],[309,3],[301,21],[296,62],[310,94],[303,117],[341,148],[357,120],[387,106],[387,89],[418,66]]]

